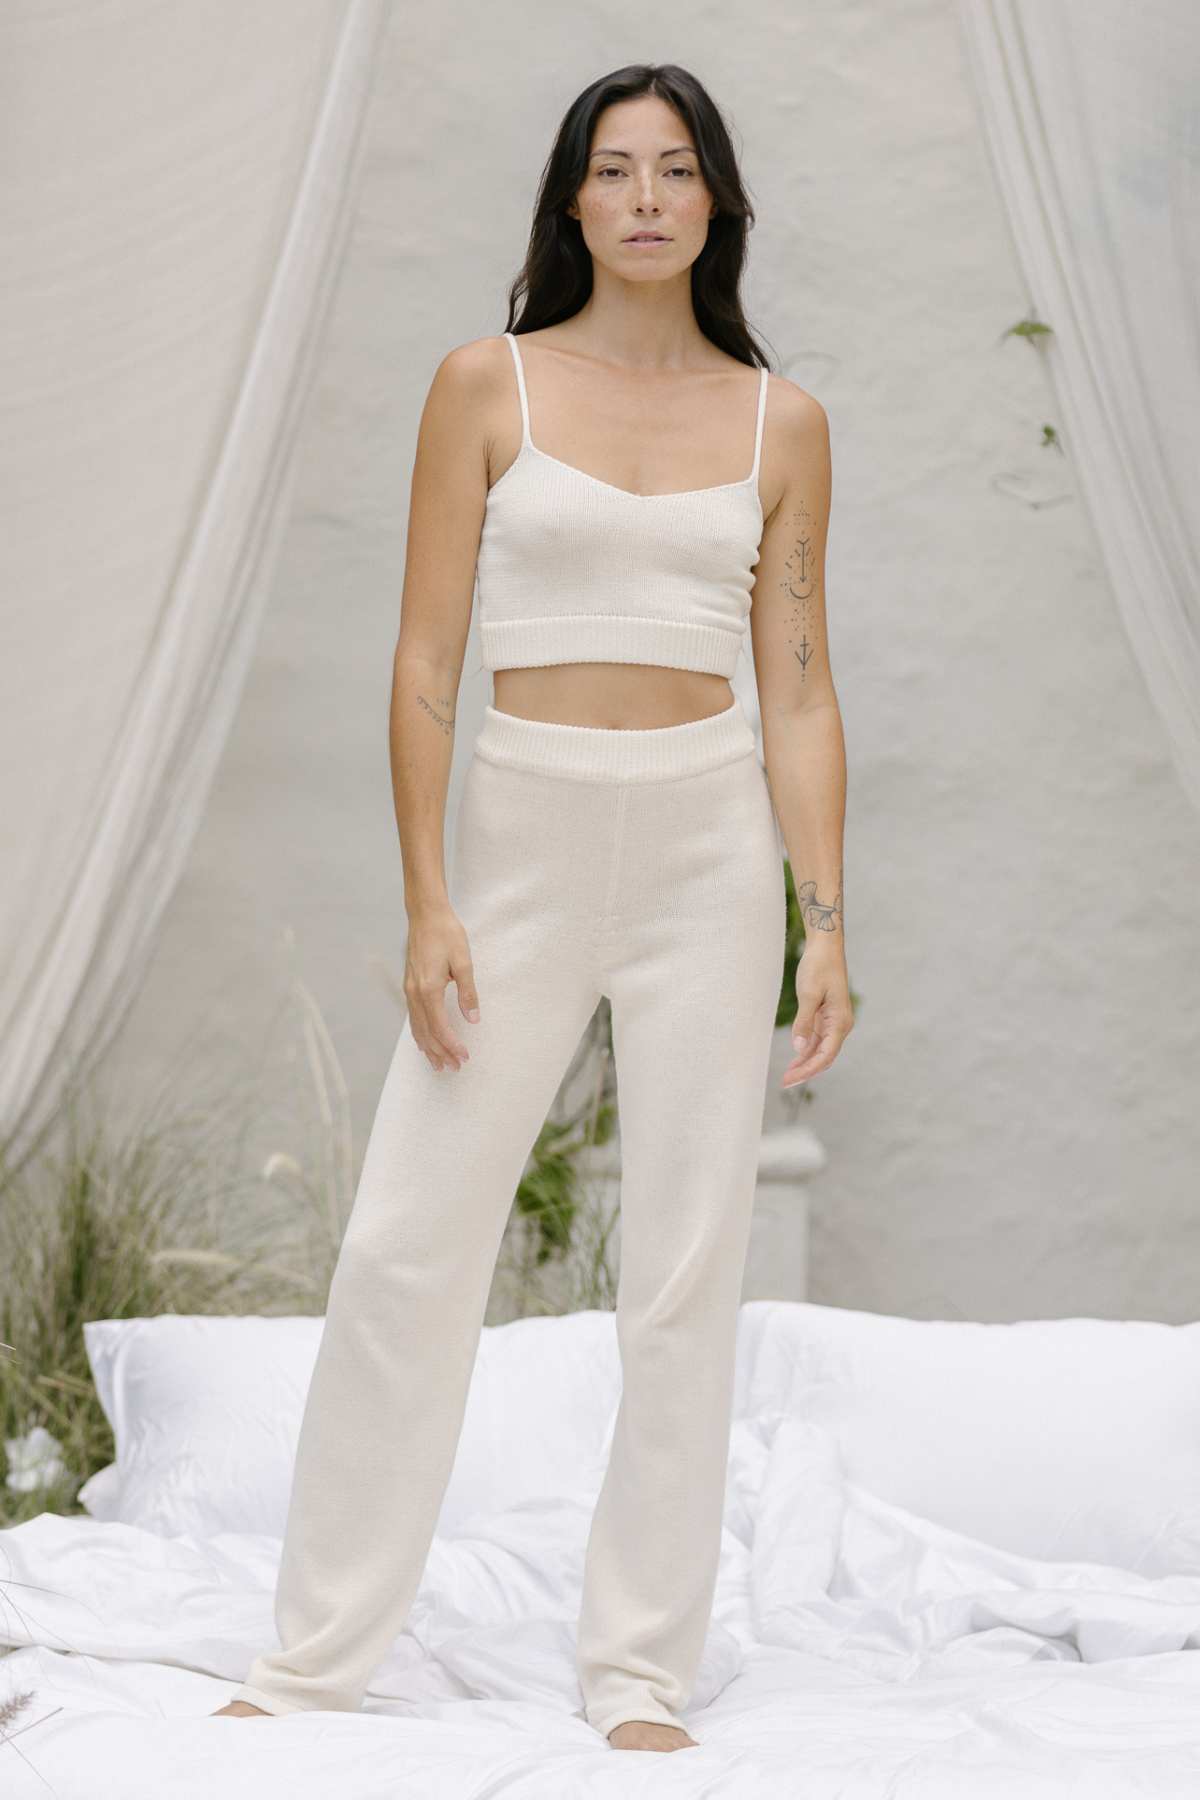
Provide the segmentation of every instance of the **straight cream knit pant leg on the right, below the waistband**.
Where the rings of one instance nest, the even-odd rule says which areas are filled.
[[[757,756],[631,788],[606,992],[621,1123],[622,1395],[588,1535],[585,1715],[678,1723],[721,1546],[734,1348],[783,981]]]

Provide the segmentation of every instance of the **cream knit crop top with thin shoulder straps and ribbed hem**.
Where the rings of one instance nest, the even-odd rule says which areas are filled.
[[[516,337],[504,335],[516,367],[522,446],[491,484],[480,531],[484,668],[655,662],[732,675],[763,538],[766,369],[743,481],[633,493],[538,450],[522,355]]]

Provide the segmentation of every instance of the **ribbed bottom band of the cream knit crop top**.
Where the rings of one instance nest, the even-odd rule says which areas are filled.
[[[480,619],[484,668],[549,662],[649,662],[657,668],[732,675],[743,630],[694,619],[642,619],[622,612],[570,612],[549,619]]]

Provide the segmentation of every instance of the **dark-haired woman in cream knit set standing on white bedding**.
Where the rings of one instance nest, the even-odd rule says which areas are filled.
[[[808,925],[784,1085],[826,1069],[851,1028],[829,439],[822,407],[759,367],[738,299],[750,220],[721,117],[685,70],[594,83],[545,171],[513,290],[520,342],[466,344],[430,387],[390,727],[408,1015],[304,1409],[282,1647],[221,1712],[356,1708],[403,1629],[513,1193],[606,994],[622,1399],[578,1670],[613,1748],[696,1742],[678,1714],[718,1571],[783,979],[781,826]],[[475,576],[495,704],[446,884]],[[766,767],[729,686],[747,616]]]

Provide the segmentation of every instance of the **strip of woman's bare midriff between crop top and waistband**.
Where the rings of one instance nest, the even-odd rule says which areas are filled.
[[[551,725],[603,725],[646,731],[687,725],[734,704],[725,675],[664,670],[646,662],[556,662],[549,668],[495,670],[498,713]]]

